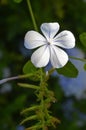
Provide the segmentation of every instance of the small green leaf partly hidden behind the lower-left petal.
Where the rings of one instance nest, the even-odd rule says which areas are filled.
[[[25,74],[35,73],[36,71],[37,68],[31,63],[31,61],[28,61],[23,67],[23,72]]]

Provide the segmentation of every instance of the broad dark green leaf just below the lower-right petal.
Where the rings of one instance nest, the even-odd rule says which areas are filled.
[[[63,68],[56,69],[56,71],[66,77],[75,78],[78,75],[77,68],[69,61]]]

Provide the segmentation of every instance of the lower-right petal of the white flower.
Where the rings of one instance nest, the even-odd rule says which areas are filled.
[[[54,68],[61,68],[68,61],[68,55],[56,46],[50,46],[50,54],[50,61]]]

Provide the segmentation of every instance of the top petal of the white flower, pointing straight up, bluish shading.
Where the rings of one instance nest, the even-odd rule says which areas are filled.
[[[54,22],[54,23],[43,23],[41,25],[41,31],[44,34],[44,36],[47,38],[53,38],[56,33],[59,30],[59,24]]]

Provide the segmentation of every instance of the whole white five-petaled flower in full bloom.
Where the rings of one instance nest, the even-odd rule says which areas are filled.
[[[62,31],[58,35],[59,24],[43,23],[42,36],[36,31],[28,31],[25,35],[24,45],[27,49],[38,48],[31,56],[31,61],[36,67],[44,67],[49,60],[54,68],[61,68],[68,62],[68,55],[61,48],[75,46],[74,35],[70,31]],[[60,48],[61,47],[61,48]]]

